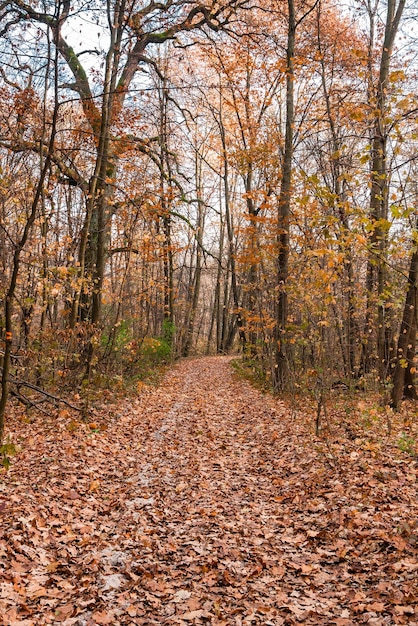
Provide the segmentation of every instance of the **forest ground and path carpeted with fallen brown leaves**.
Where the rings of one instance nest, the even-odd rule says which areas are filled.
[[[90,423],[15,411],[0,623],[418,624],[414,440],[327,401],[315,436],[212,357]]]

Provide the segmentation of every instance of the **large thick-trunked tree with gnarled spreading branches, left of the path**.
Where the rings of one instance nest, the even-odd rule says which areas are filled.
[[[171,2],[143,5],[107,0],[86,8],[83,3],[77,6],[58,0],[50,10],[40,11],[37,4],[5,3],[5,29],[16,23],[27,25],[29,29],[39,25],[39,36],[45,30],[45,36],[50,36],[61,61],[61,89],[74,94],[80,102],[84,131],[90,135],[92,158],[86,164],[88,172],[80,167],[69,172],[66,155],[55,159],[63,176],[68,176],[71,184],[86,192],[79,246],[80,287],[74,298],[73,321],[77,318],[97,324],[101,318],[109,228],[118,203],[119,156],[129,140],[124,114],[139,69],[155,64],[147,57],[147,49],[160,46],[182,32],[201,28],[217,32],[230,22],[234,9],[241,4],[244,3],[237,0],[208,5],[176,2],[173,6]],[[98,43],[104,42],[104,47],[96,45],[93,50],[85,46],[78,46],[78,50],[74,48],[67,33],[70,28],[82,28],[82,20],[89,23],[89,37],[93,31],[99,38]],[[87,55],[87,65],[82,55]],[[89,72],[86,68],[92,62],[92,55],[98,58],[99,67]],[[137,139],[140,144],[142,138]],[[73,145],[72,149],[77,150],[77,147]],[[74,159],[71,162],[73,164]],[[83,287],[85,278],[91,281],[90,290]]]

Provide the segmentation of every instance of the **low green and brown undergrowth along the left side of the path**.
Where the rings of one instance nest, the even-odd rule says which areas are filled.
[[[14,351],[9,402],[17,401],[29,421],[63,410],[88,421],[92,407],[158,385],[172,363],[173,332],[164,325],[161,336],[134,339],[126,322],[103,331],[80,325],[44,332]],[[0,450],[3,458],[7,463],[8,451]]]

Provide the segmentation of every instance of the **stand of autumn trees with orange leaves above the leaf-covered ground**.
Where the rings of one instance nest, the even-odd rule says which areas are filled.
[[[240,349],[276,389],[309,387],[314,371],[325,387],[393,388],[394,406],[415,396],[403,1],[358,15],[293,0],[181,2],[178,14],[116,2],[109,23],[99,7],[9,4],[0,287],[12,375],[80,389]]]

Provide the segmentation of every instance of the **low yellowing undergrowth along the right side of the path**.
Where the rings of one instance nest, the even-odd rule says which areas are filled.
[[[276,395],[254,363],[235,359],[231,365],[238,378],[263,393]],[[390,450],[396,457],[418,459],[417,402],[405,400],[395,412],[371,383],[334,381],[325,385],[312,372],[300,377],[279,397],[295,419],[308,422],[313,436],[322,440],[331,453],[334,446],[345,446],[366,450],[372,456]]]

